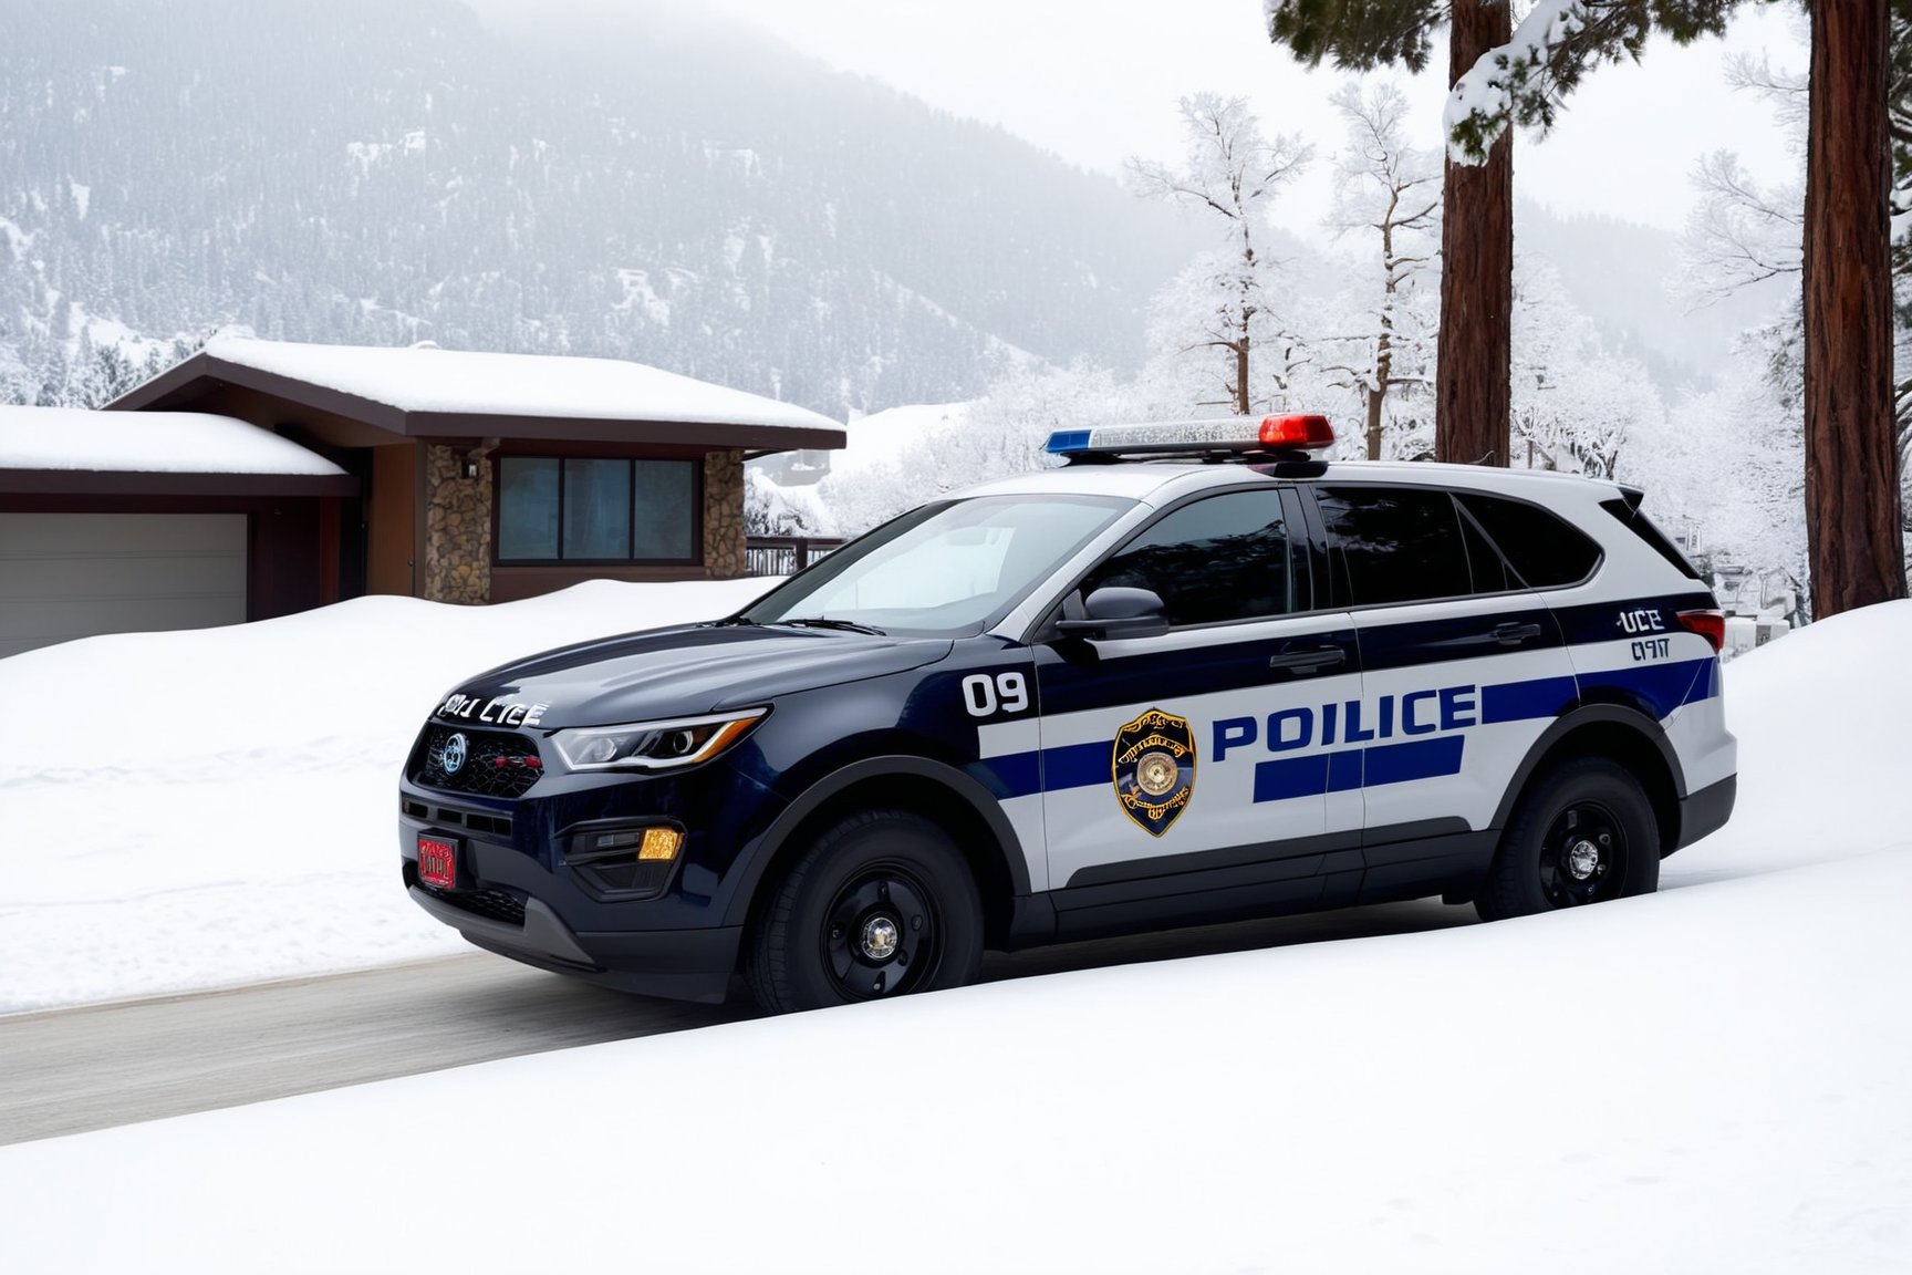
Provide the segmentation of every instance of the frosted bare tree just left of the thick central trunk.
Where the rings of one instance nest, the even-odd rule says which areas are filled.
[[[1329,226],[1336,237],[1373,231],[1380,247],[1375,333],[1361,338],[1363,357],[1344,365],[1367,401],[1367,459],[1379,461],[1388,390],[1428,382],[1430,333],[1403,302],[1413,300],[1438,249],[1430,235],[1440,224],[1442,161],[1407,145],[1407,97],[1394,84],[1375,84],[1367,94],[1342,84],[1331,101],[1348,122],[1348,143],[1336,157]]]

